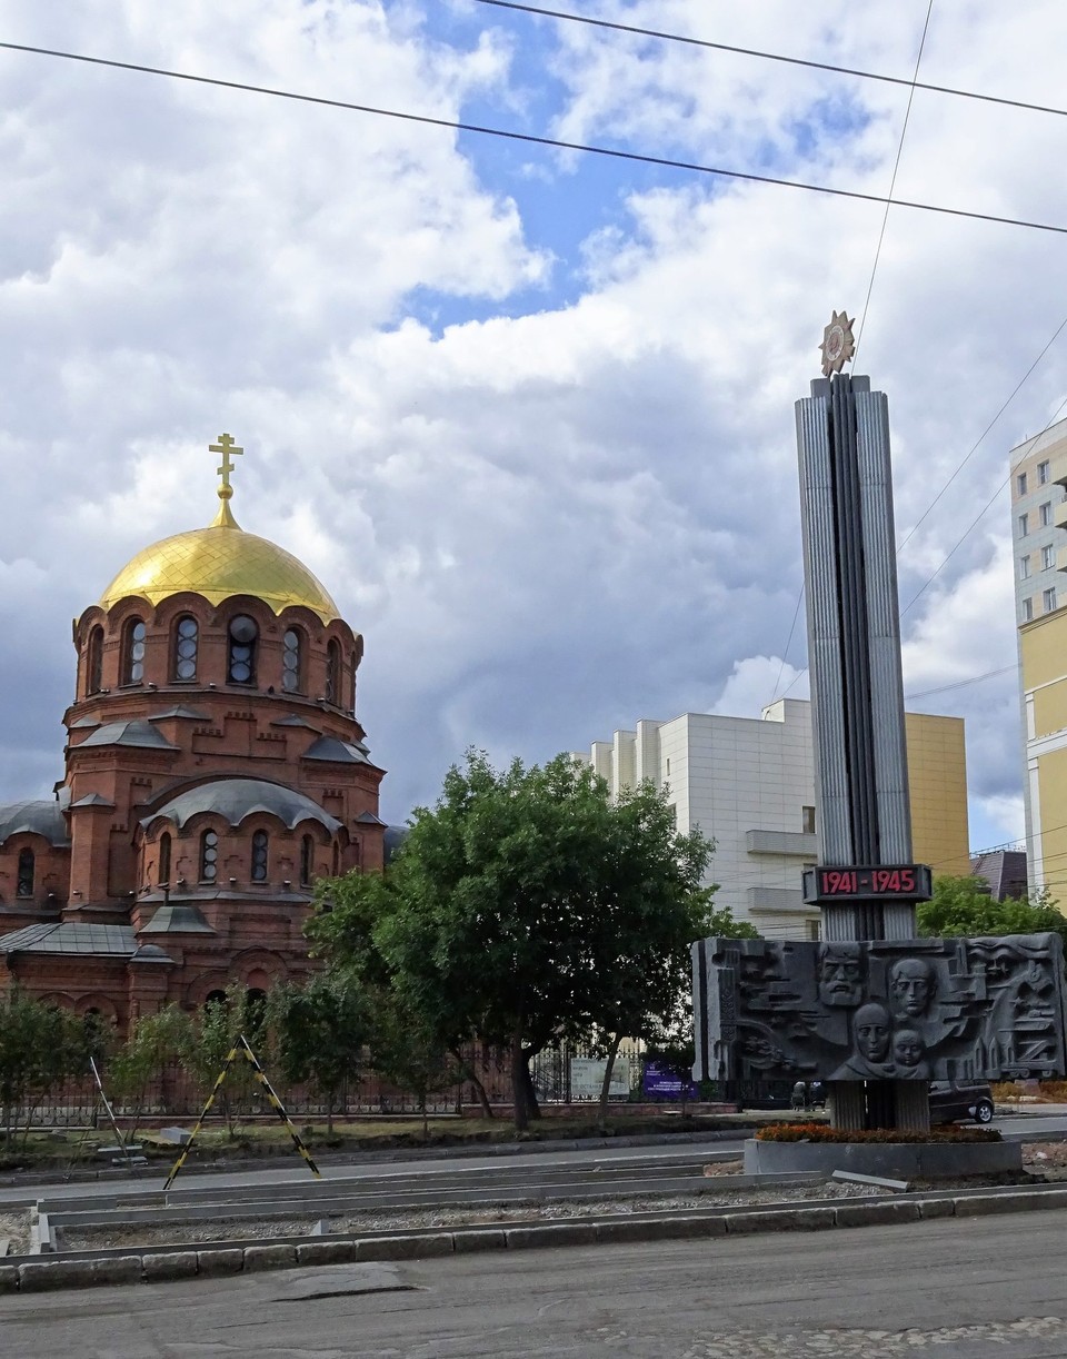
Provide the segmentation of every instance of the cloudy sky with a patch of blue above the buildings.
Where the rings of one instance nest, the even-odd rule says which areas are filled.
[[[1066,102],[1062,0],[548,7],[905,82],[929,11],[920,82]],[[0,0],[0,41],[1067,226],[1064,117],[479,0]],[[0,164],[0,800],[61,777],[71,620],[212,519],[223,429],[365,637],[391,822],[468,746],[806,696],[794,402],[846,310],[910,705],[967,722],[972,845],[1022,834],[1007,459],[1067,397],[1067,329],[1013,397],[1067,236],[10,50]]]

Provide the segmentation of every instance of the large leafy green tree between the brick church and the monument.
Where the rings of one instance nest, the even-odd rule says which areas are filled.
[[[649,784],[615,803],[569,756],[497,772],[470,752],[414,814],[375,943],[445,1046],[478,1034],[509,1051],[521,1131],[547,1044],[641,1027],[675,1002],[711,848],[675,832]]]

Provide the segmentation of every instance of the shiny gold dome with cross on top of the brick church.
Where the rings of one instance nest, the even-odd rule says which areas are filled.
[[[189,590],[214,605],[231,595],[248,594],[262,599],[274,613],[304,605],[323,622],[339,618],[337,605],[301,561],[277,544],[244,533],[229,512],[232,465],[228,454],[240,450],[227,440],[229,436],[223,435],[221,447],[212,446],[212,451],[223,453],[225,469],[219,487],[221,504],[213,523],[163,538],[138,552],[100,595],[100,607],[110,609],[126,595],[141,595],[157,605]]]

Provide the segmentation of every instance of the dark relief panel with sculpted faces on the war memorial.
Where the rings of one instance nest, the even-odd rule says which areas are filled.
[[[692,946],[698,1080],[1064,1074],[1056,934]]]

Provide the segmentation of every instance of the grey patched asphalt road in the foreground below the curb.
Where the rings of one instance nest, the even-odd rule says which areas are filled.
[[[1052,1359],[1060,1214],[24,1295],[20,1359]]]

